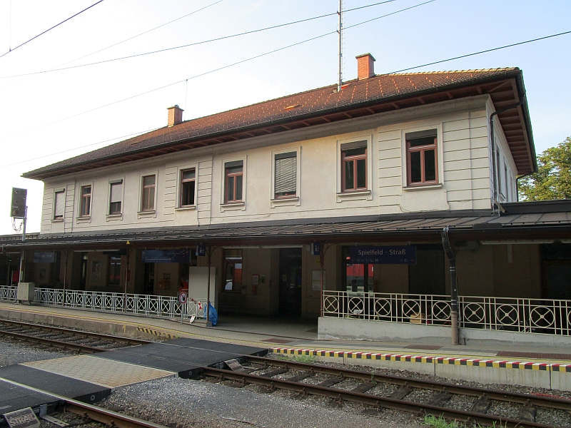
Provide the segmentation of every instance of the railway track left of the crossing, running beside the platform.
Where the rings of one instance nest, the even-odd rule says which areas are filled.
[[[37,325],[29,322],[0,320],[0,335],[79,352],[104,352],[121,347],[146,345],[147,340],[129,339],[63,327]]]

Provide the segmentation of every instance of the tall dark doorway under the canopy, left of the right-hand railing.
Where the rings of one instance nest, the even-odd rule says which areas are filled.
[[[301,316],[301,248],[280,248],[280,315]]]

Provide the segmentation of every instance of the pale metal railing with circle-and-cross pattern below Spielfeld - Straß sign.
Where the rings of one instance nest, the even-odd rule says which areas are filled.
[[[571,335],[571,300],[460,296],[462,328]],[[323,316],[422,325],[450,325],[450,297],[323,292]]]

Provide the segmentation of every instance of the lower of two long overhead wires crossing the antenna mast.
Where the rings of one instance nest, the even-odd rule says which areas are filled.
[[[390,16],[390,15],[398,14],[399,12],[402,12],[402,11],[408,11],[409,9],[413,9],[413,8],[415,8],[415,7],[418,7],[418,6],[423,6],[423,4],[431,3],[432,1],[436,1],[436,0],[425,1],[424,3],[417,4],[416,6],[407,7],[407,8],[405,8],[405,9],[400,9],[400,11],[395,11],[395,12],[391,12],[390,14],[385,14],[385,15],[383,15],[383,16],[378,16],[376,19],[380,19],[380,18],[383,18],[383,17],[385,17],[385,16]],[[373,21],[373,20],[369,19],[368,21],[363,21],[363,23],[354,24],[354,25],[351,26],[351,27],[355,27],[355,26],[358,26],[358,25],[361,25],[361,24],[366,24],[366,23],[368,23],[368,22],[370,22],[370,21]],[[23,134],[23,133],[28,133],[28,132],[31,132],[31,131],[35,131],[36,129],[44,128],[44,127],[46,127],[46,126],[53,125],[54,123],[59,123],[59,122],[66,121],[66,120],[71,119],[71,118],[75,118],[75,117],[77,117],[77,116],[82,116],[82,115],[84,115],[84,114],[86,114],[86,113],[91,113],[92,111],[100,110],[101,108],[106,108],[106,107],[108,107],[108,106],[113,106],[114,104],[122,103],[123,101],[128,101],[128,100],[131,100],[131,99],[133,99],[133,98],[137,98],[138,96],[146,95],[147,93],[151,93],[151,92],[155,92],[155,91],[160,91],[161,89],[164,89],[164,88],[168,88],[168,87],[170,87],[170,86],[177,85],[178,83],[182,83],[182,82],[191,80],[191,79],[193,79],[193,78],[198,78],[198,77],[201,77],[201,76],[206,76],[207,74],[210,74],[210,73],[214,73],[214,72],[216,72],[216,71],[223,70],[224,68],[229,68],[229,67],[232,67],[232,66],[236,66],[236,65],[238,65],[238,64],[245,63],[245,62],[247,62],[247,61],[251,61],[251,60],[256,59],[256,58],[261,58],[262,56],[266,56],[266,55],[269,55],[269,54],[274,54],[274,53],[276,53],[276,52],[278,52],[278,51],[283,51],[284,49],[288,49],[288,48],[291,48],[291,47],[293,47],[293,46],[298,46],[298,45],[300,45],[300,44],[307,43],[308,41],[313,41],[313,40],[316,40],[316,39],[321,39],[322,37],[329,36],[330,34],[337,34],[337,30],[330,31],[330,32],[325,33],[325,34],[321,34],[320,36],[311,37],[310,39],[305,39],[305,40],[303,40],[303,41],[298,41],[298,42],[296,42],[296,43],[294,43],[294,44],[290,44],[290,45],[288,45],[288,46],[283,46],[283,47],[278,48],[278,49],[273,49],[272,51],[268,51],[268,52],[265,52],[265,53],[263,53],[263,54],[259,54],[259,55],[256,55],[256,56],[251,56],[250,58],[246,58],[246,59],[243,59],[243,60],[241,60],[241,61],[237,61],[237,62],[235,62],[235,63],[227,64],[226,66],[221,66],[221,67],[218,67],[218,68],[214,68],[213,70],[205,71],[204,73],[199,73],[199,74],[196,74],[195,76],[192,76],[192,77],[189,77],[189,78],[184,78],[184,79],[182,79],[182,80],[180,80],[180,81],[176,81],[176,82],[173,82],[173,83],[168,83],[167,85],[160,86],[160,87],[154,88],[154,89],[150,89],[150,90],[148,90],[148,91],[145,91],[145,92],[142,92],[142,93],[138,93],[138,94],[136,94],[136,95],[129,96],[129,97],[127,97],[127,98],[123,98],[123,99],[118,100],[118,101],[113,101],[112,103],[108,103],[108,104],[105,104],[105,105],[103,105],[103,106],[98,106],[98,107],[95,107],[95,108],[91,108],[90,110],[82,111],[81,113],[76,113],[76,114],[74,114],[74,115],[72,115],[72,116],[67,116],[66,118],[61,118],[61,119],[59,119],[59,120],[57,120],[57,121],[45,123],[44,125],[36,126],[36,128],[30,128],[30,129],[28,129],[28,130],[26,130],[26,131],[22,131],[22,132],[20,132],[20,133],[12,134],[11,136],[7,136],[6,138],[4,138],[4,140],[9,140],[10,138],[14,138],[15,136],[19,136],[19,135],[21,135],[21,134]]]

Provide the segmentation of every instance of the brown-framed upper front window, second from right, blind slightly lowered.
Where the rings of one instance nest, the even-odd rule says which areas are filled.
[[[367,188],[367,141],[341,144],[341,191]]]

